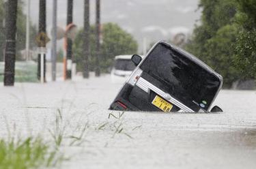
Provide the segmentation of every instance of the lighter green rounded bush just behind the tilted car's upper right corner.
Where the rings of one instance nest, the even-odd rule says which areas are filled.
[[[205,60],[216,70],[221,72],[225,78],[224,87],[231,87],[231,84],[240,78],[240,72],[233,65],[235,59],[236,38],[238,35],[237,25],[225,25],[216,32],[216,35],[205,44],[207,55]]]

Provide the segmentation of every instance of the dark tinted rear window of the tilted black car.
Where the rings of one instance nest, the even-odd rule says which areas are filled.
[[[141,70],[167,85],[170,95],[186,106],[208,110],[218,88],[219,78],[165,44],[158,44],[141,65]]]

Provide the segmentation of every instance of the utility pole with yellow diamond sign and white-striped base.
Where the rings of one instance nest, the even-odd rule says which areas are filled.
[[[38,54],[38,80],[46,82],[46,0],[39,1],[39,33],[37,37],[39,54]]]

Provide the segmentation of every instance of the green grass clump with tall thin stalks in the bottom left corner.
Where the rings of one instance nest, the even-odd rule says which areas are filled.
[[[63,131],[60,129],[61,112],[56,114],[53,139],[40,136],[15,139],[10,132],[8,122],[8,139],[0,138],[0,169],[53,168],[67,160],[61,153]],[[49,130],[50,131],[50,130]]]

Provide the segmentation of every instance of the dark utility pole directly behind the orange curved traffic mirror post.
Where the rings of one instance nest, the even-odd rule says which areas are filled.
[[[67,27],[73,22],[73,0],[68,0],[68,17]],[[72,76],[72,39],[67,37],[67,62],[66,62],[66,79]]]

